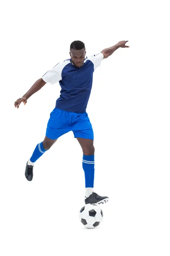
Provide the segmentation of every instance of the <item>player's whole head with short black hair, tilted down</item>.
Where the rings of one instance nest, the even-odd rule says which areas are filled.
[[[85,44],[81,41],[74,41],[70,45],[71,61],[76,67],[81,67],[85,60]]]

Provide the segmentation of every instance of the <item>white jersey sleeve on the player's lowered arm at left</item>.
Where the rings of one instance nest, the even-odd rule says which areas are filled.
[[[62,69],[63,69],[63,64],[62,62],[59,62],[54,68],[52,68],[51,70],[48,70],[42,76],[42,79],[46,83],[55,84],[62,79],[62,76],[61,76]]]

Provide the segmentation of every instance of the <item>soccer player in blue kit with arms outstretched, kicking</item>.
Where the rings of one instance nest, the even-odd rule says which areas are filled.
[[[73,131],[82,147],[82,168],[85,172],[85,204],[103,204],[107,196],[94,192],[94,133],[86,112],[91,93],[93,73],[100,66],[102,59],[108,58],[119,47],[129,47],[128,41],[120,41],[116,45],[102,50],[94,56],[85,57],[85,44],[74,41],[70,45],[70,56],[59,62],[38,79],[22,98],[14,103],[19,108],[20,103],[26,105],[28,98],[40,90],[46,83],[61,86],[60,96],[54,110],[50,113],[44,140],[37,144],[31,158],[26,163],[25,176],[28,181],[33,178],[34,163],[49,150],[63,134]]]

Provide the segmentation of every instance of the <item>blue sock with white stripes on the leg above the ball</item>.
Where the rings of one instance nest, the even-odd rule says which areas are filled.
[[[85,187],[94,187],[94,155],[85,156],[83,154],[82,168],[85,172]]]

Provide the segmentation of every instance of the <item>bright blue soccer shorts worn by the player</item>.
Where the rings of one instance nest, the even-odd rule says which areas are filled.
[[[93,128],[86,112],[74,113],[54,108],[48,120],[46,137],[56,140],[69,131],[73,131],[74,138],[94,140]]]

